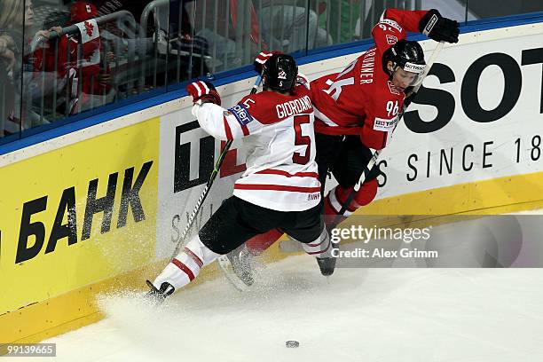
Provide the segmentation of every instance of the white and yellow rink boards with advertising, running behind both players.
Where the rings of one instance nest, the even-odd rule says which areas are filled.
[[[413,105],[398,126],[380,160],[386,163],[377,201],[364,212],[445,215],[539,206],[542,33],[542,24],[500,28],[461,35],[460,43],[445,46],[436,73],[424,83],[428,91],[421,102],[428,104]],[[436,45],[421,44],[427,56]],[[314,79],[341,71],[358,55],[305,64],[301,71]],[[217,87],[223,105],[233,106],[253,82]],[[221,146],[197,127],[190,106],[188,98],[180,98],[3,156],[0,281],[7,287],[0,298],[0,343],[38,341],[99,318],[97,290],[143,287],[142,271],[153,275],[150,265],[169,256]],[[133,215],[138,202],[130,199],[123,224],[127,169],[133,174],[126,182],[130,189],[145,168],[138,197],[131,194],[145,218]],[[197,226],[232,193],[243,169],[243,153],[234,145]],[[97,211],[85,229],[91,181],[98,180],[98,200],[115,174],[114,196],[100,204],[112,205],[111,222],[104,223],[107,217]],[[68,214],[76,216],[73,224]],[[15,263],[21,235],[33,248],[37,238],[31,232],[40,233],[40,223],[42,248]],[[53,229],[59,238],[54,248]],[[83,229],[89,233],[84,240]],[[72,230],[75,238],[70,239]],[[50,242],[53,250],[45,253]]]

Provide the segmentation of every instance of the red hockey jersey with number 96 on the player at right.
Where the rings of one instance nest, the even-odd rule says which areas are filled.
[[[382,68],[382,54],[407,31],[418,32],[426,11],[387,9],[372,30],[375,46],[354,60],[341,73],[311,82],[315,130],[328,135],[359,135],[375,150],[387,146],[404,105],[405,94],[397,90]]]

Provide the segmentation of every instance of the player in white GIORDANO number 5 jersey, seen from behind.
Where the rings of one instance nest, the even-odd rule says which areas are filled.
[[[217,257],[275,228],[302,242],[304,250],[317,257],[323,274],[334,271],[321,217],[310,91],[296,84],[297,72],[291,56],[273,55],[264,64],[264,91],[230,109],[220,106],[211,83],[187,86],[203,130],[222,140],[245,138],[247,170],[236,181],[233,196],[154,279],[151,295],[165,298]]]

